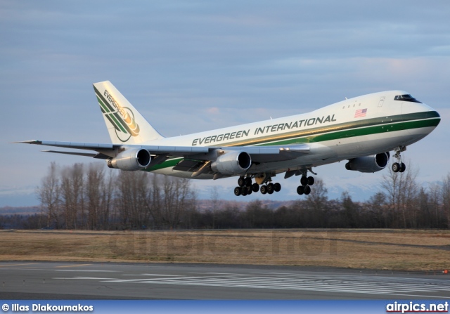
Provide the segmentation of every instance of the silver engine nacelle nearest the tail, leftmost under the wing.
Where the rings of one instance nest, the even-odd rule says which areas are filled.
[[[134,171],[146,168],[150,164],[151,156],[148,150],[134,148],[120,152],[113,159],[106,161],[110,168]]]

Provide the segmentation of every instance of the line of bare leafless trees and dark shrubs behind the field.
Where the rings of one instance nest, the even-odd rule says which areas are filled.
[[[365,202],[348,192],[329,199],[316,179],[314,192],[289,205],[269,208],[261,200],[240,208],[221,202],[213,188],[207,209],[199,207],[191,181],[144,171],[117,171],[101,164],[51,163],[37,188],[40,212],[0,216],[15,228],[137,230],[193,228],[450,228],[450,174],[427,188],[417,171],[389,170]]]

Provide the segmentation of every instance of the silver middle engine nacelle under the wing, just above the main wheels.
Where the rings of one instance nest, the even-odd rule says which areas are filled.
[[[243,174],[252,165],[252,158],[248,152],[227,152],[217,157],[211,164],[214,172],[221,174]]]

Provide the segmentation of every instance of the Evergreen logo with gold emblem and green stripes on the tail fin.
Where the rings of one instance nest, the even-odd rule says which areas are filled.
[[[103,95],[96,89],[96,96],[103,116],[113,124],[120,141],[127,142],[131,136],[139,135],[139,125],[134,120],[134,113],[129,107],[122,107],[107,89]]]

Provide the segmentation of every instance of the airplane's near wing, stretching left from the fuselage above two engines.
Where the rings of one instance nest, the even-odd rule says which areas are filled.
[[[215,150],[245,151],[252,157],[254,162],[276,162],[289,160],[309,152],[309,145],[274,145],[274,146],[162,146],[162,145],[117,145],[105,143],[76,143],[58,142],[51,140],[24,140],[14,143],[25,143],[34,145],[53,146],[58,148],[72,148],[76,150],[94,150],[97,154],[87,152],[65,152],[58,150],[45,150],[44,152],[56,152],[67,155],[79,155],[100,159],[110,159],[117,155],[121,148],[143,148],[151,155],[164,156],[165,159],[172,157],[189,157],[197,160],[211,160],[214,155],[210,153]]]

